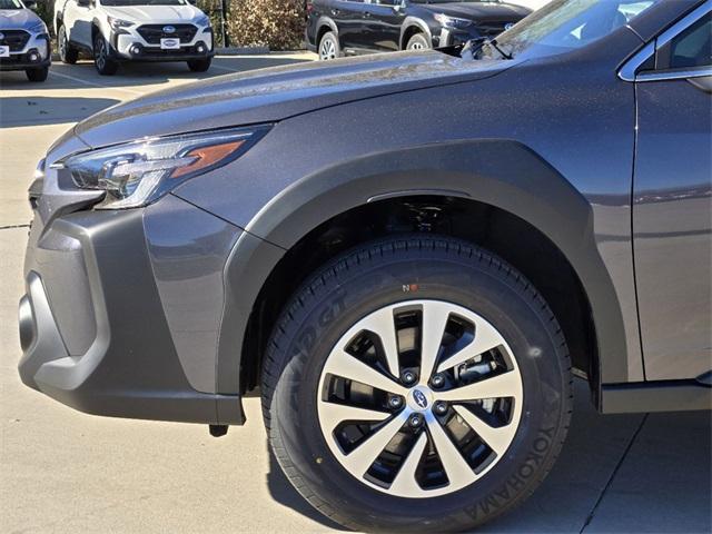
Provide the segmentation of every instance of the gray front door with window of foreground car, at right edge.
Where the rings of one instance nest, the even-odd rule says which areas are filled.
[[[709,9],[693,13],[661,36],[655,68],[636,78],[633,239],[647,380],[712,369],[711,37]]]

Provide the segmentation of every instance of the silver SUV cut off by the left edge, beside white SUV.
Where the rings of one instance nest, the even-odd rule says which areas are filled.
[[[51,63],[49,33],[33,7],[0,0],[0,70],[23,70],[30,81],[44,81]]]

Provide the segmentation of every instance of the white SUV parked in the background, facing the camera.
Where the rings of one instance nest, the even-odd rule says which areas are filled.
[[[188,0],[57,0],[55,30],[65,63],[85,51],[103,76],[121,61],[186,61],[205,72],[215,53],[210,19]]]

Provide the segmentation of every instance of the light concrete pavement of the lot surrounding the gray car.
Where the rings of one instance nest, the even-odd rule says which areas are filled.
[[[46,83],[0,73],[0,532],[335,532],[270,458],[257,398],[248,422],[207,427],[73,412],[24,387],[17,301],[37,161],[71,125],[119,101],[207,76],[310,60],[306,53],[217,58],[205,76],[181,63],[99,77],[56,65]],[[537,493],[481,532],[709,533],[709,413],[600,416],[576,384],[564,451]]]

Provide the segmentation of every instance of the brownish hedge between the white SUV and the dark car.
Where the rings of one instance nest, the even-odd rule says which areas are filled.
[[[305,20],[304,0],[231,0],[230,44],[271,50],[301,48]]]

